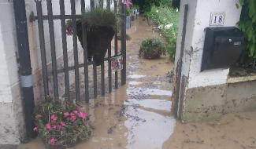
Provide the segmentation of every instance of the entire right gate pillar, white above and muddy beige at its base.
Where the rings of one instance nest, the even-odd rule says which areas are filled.
[[[210,27],[210,13],[224,12],[224,27],[236,26],[241,7],[239,0],[181,0],[176,61],[180,59],[184,5],[188,4],[187,33],[182,60],[184,89],[180,89],[179,117],[184,122],[202,122],[221,116],[225,104],[229,69],[200,72],[205,41],[205,28]],[[180,112],[180,111],[179,111]]]

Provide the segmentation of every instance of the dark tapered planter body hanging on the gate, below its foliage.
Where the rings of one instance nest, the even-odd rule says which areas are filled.
[[[86,24],[83,24],[84,28]],[[77,37],[83,47],[83,31],[82,22],[76,22]],[[112,27],[95,26],[91,30],[87,30],[87,53],[88,60],[93,57],[97,66],[104,62],[106,51],[115,35]]]

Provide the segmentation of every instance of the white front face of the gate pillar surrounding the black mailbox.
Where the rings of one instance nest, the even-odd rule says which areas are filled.
[[[191,46],[194,52],[191,56],[188,88],[207,85],[225,84],[228,80],[229,69],[200,72],[206,27],[210,24],[210,13],[224,12],[224,27],[234,26],[240,17],[241,7],[236,8],[239,0],[198,0],[195,24]]]

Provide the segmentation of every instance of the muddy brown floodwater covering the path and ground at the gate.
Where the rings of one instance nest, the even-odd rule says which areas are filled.
[[[139,58],[145,38],[158,37],[140,16],[128,30],[128,82],[113,93],[90,100],[93,136],[72,149],[250,149],[256,148],[256,112],[225,114],[218,122],[184,124],[171,114],[172,89],[165,74],[173,68],[167,56]],[[37,138],[19,149],[44,149]]]

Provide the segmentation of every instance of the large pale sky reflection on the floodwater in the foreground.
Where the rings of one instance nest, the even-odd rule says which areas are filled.
[[[155,149],[161,148],[165,140],[173,134],[176,120],[141,109],[128,107],[128,120],[124,125],[128,131],[128,149]],[[139,118],[138,118],[139,117]]]

